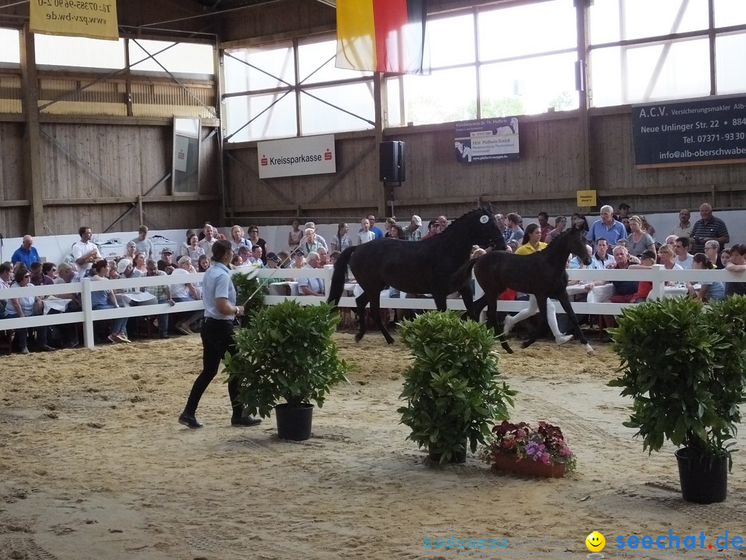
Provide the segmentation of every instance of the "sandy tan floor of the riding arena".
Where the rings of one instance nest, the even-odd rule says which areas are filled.
[[[471,453],[427,466],[396,413],[406,349],[377,333],[337,340],[357,370],[300,443],[279,441],[273,419],[231,427],[222,376],[198,411],[204,429],[177,423],[198,336],[1,355],[0,559],[467,557],[423,547],[423,533],[508,539],[472,557],[585,558],[594,529],[609,558],[616,535],[745,536],[746,455],[735,455],[727,502],[684,503],[674,449],[648,457],[621,425],[629,402],[605,385],[618,361],[604,346],[594,357],[578,343],[501,354],[520,391],[513,419],[559,424],[577,452],[576,473],[545,480],[497,473]]]

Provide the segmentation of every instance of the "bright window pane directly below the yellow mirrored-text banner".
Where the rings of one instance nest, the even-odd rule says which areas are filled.
[[[34,36],[37,64],[119,69],[125,67],[125,40],[106,41],[62,35]]]

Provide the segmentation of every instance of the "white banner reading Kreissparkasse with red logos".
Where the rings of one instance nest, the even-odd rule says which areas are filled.
[[[336,172],[334,135],[257,142],[260,178]]]

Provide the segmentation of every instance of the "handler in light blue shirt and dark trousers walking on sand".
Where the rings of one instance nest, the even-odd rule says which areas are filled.
[[[233,350],[233,318],[243,315],[242,305],[236,305],[236,288],[231,281],[228,265],[231,263],[231,243],[218,241],[213,251],[215,265],[204,275],[204,327],[200,331],[202,339],[202,372],[192,385],[189,399],[186,400],[184,412],[179,416],[179,423],[189,428],[201,428],[195,413],[207,385],[215,378],[220,361],[225,352]],[[238,401],[239,385],[236,381],[228,382],[228,395],[231,397],[233,416],[232,426],[254,426],[261,422],[258,418],[242,417],[243,407]]]

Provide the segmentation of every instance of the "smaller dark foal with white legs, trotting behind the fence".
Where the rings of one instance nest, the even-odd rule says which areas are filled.
[[[514,255],[508,252],[489,252],[486,255],[468,261],[454,278],[457,285],[467,284],[471,279],[471,269],[474,276],[484,290],[484,295],[474,302],[471,309],[467,308],[469,317],[479,320],[480,313],[487,307],[487,324],[498,331],[497,305],[498,296],[506,288],[536,296],[536,305],[539,307],[539,329],[523,343],[527,348],[536,341],[539,335],[543,335],[547,328],[547,298],[557,299],[565,310],[574,326],[574,332],[585,344],[586,352],[589,354],[593,349],[588,343],[586,335],[580,330],[574,311],[570,305],[567,295],[567,259],[570,253],[577,255],[583,264],[591,264],[583,231],[577,230],[575,226],[562,233],[557,239],[549,243],[543,251],[531,253],[530,255]],[[533,302],[532,302],[533,303]],[[507,335],[507,328],[503,335]],[[512,352],[507,342],[502,340],[502,346],[507,352]]]

